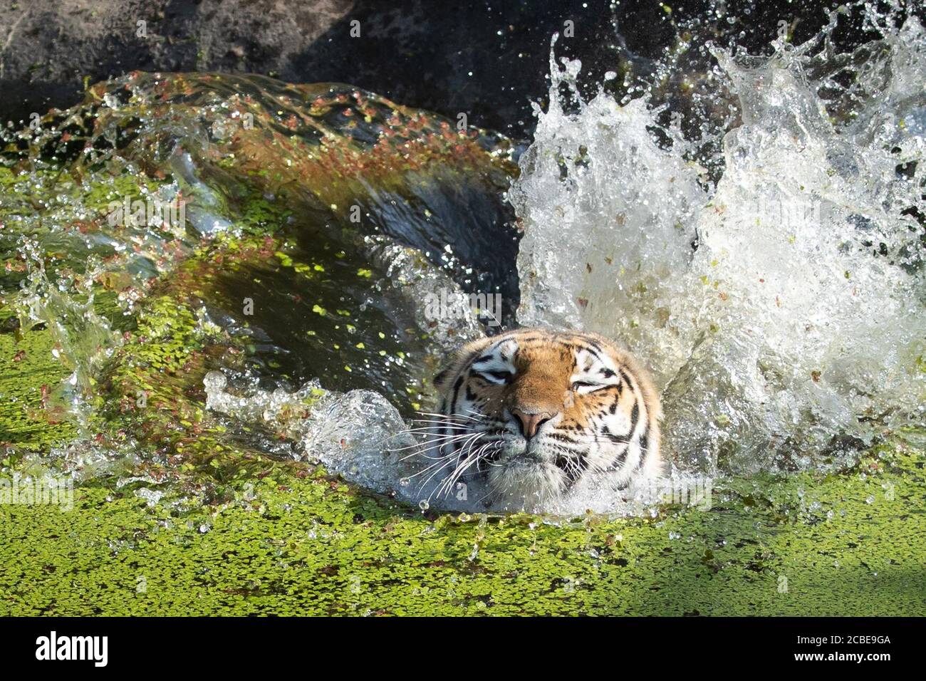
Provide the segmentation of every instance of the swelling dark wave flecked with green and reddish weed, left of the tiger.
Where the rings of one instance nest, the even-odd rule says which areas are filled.
[[[257,465],[217,451],[293,456],[253,410],[207,411],[206,372],[375,390],[408,416],[480,328],[432,322],[428,295],[517,304],[511,145],[348,86],[133,74],[3,153],[5,312],[52,336],[71,373],[46,410],[81,432],[22,453],[35,473],[200,494]]]

